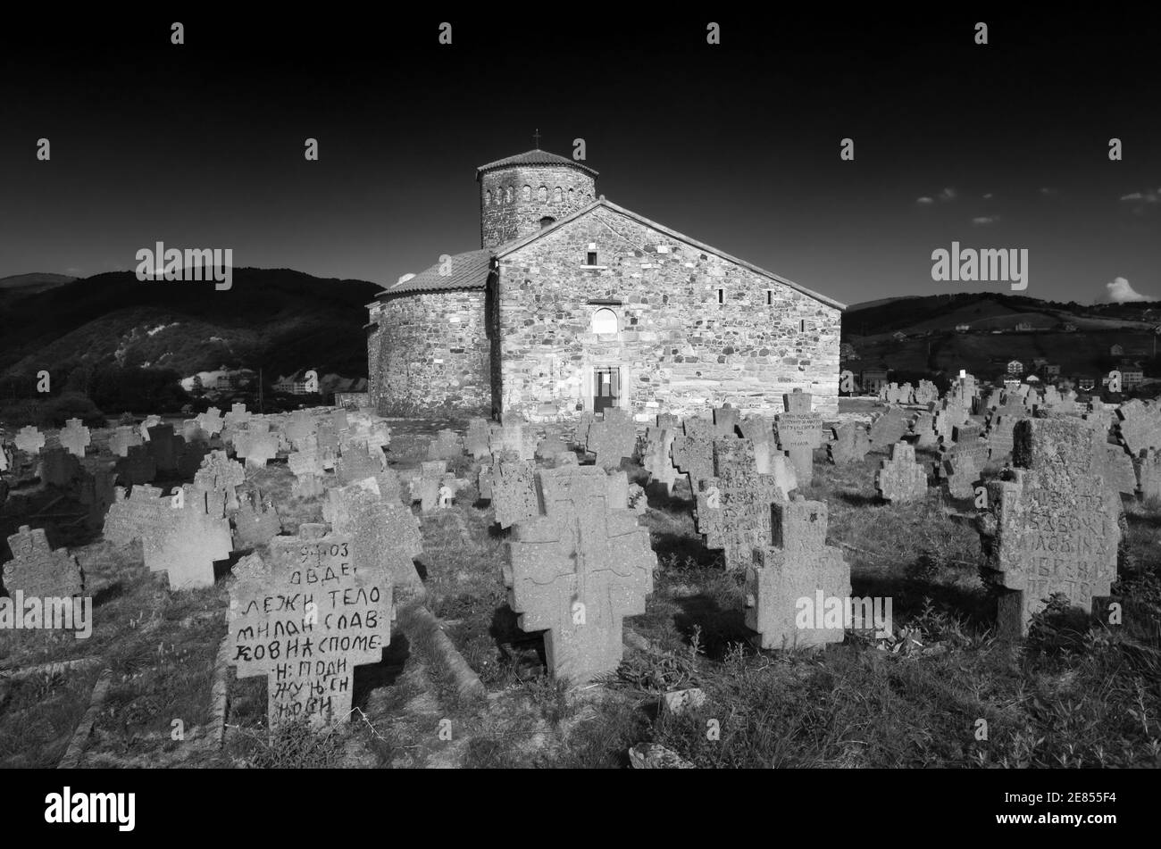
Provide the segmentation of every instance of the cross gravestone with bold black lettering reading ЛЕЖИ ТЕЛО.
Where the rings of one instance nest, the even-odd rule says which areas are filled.
[[[392,586],[382,568],[356,566],[353,540],[303,524],[250,554],[230,583],[237,676],[267,679],[267,723],[346,721],[354,667],[378,663],[391,641]]]

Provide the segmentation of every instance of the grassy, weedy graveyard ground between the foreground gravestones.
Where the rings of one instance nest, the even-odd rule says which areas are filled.
[[[421,436],[444,424],[392,422],[392,467],[414,469]],[[88,540],[73,551],[92,576],[93,637],[0,631],[0,767],[56,765],[84,721],[81,767],[620,768],[644,741],[706,768],[1161,765],[1161,506],[1126,509],[1123,625],[1050,612],[1014,646],[990,632],[971,501],[932,487],[918,503],[882,505],[882,458],[832,466],[819,450],[801,492],[828,503],[828,543],[851,565],[854,595],[893,600],[890,639],[849,632],[822,651],[756,651],[743,576],[704,546],[687,488],[650,488],[655,590],[625,623],[619,670],[569,690],[547,677],[541,634],[517,627],[502,580],[509,534],[473,482],[421,516],[423,592],[402,601],[383,661],[356,667],[351,721],[273,739],[265,680],[236,680],[221,656],[229,564],[212,588],[171,592],[139,544]],[[454,464],[469,481],[477,467]],[[646,484],[636,463],[622,469]],[[275,462],[246,484],[274,499],[287,532],[322,520],[320,499],[290,496],[291,478]],[[479,690],[464,691],[457,658]],[[705,703],[661,706],[686,688]]]

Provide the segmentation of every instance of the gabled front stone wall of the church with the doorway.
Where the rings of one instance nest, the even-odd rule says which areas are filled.
[[[596,268],[584,267],[590,242]],[[614,210],[504,255],[496,303],[505,415],[576,416],[600,367],[621,369],[620,406],[637,421],[727,401],[772,415],[794,389],[837,412],[838,309]],[[593,333],[601,306],[615,333]]]

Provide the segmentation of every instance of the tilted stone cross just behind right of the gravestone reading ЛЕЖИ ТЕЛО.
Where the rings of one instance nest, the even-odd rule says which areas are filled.
[[[353,543],[356,568],[385,569],[396,590],[423,585],[414,558],[424,550],[419,517],[405,507],[380,499],[374,479],[327,489],[323,517],[339,536]]]

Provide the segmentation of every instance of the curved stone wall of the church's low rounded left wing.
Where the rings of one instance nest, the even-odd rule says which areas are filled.
[[[376,303],[367,336],[380,415],[490,415],[484,290],[412,292]]]

